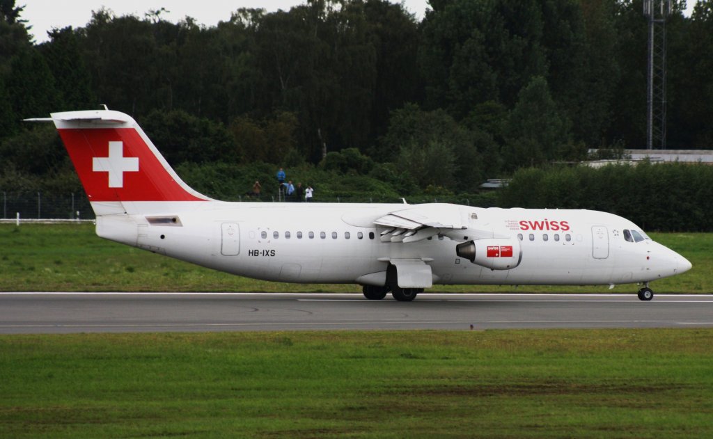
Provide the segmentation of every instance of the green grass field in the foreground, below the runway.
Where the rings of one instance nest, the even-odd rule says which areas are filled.
[[[0,437],[713,436],[713,330],[0,336]]]

